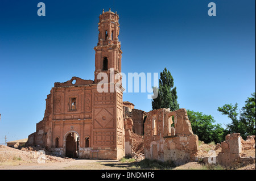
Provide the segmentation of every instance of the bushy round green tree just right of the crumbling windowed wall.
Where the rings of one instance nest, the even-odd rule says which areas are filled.
[[[211,141],[220,143],[225,140],[225,129],[220,124],[214,125],[212,116],[191,110],[187,110],[187,113],[193,133],[197,134],[200,141],[208,144]]]

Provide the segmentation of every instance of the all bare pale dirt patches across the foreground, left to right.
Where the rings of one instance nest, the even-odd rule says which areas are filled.
[[[209,148],[210,147],[210,148]],[[201,144],[199,155],[207,155],[209,149],[215,146]],[[23,150],[0,146],[0,170],[122,170],[137,169],[129,162],[96,160],[96,159],[72,159],[40,154],[40,148],[26,148]],[[216,150],[220,151],[220,150]],[[255,150],[249,154],[254,154]],[[205,170],[209,169],[197,162],[189,162],[175,167],[174,170]],[[214,169],[218,169],[217,167]],[[220,168],[221,169],[221,168]],[[255,170],[254,165],[247,165],[242,170]]]

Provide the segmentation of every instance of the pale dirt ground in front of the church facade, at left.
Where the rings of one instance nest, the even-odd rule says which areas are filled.
[[[126,169],[126,165],[119,161],[96,159],[61,158],[53,155],[44,156],[40,148],[26,148],[23,150],[0,145],[0,170],[102,170]]]

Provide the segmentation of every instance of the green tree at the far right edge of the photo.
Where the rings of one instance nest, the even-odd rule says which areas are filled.
[[[227,115],[232,120],[227,124],[228,133],[240,133],[242,138],[255,134],[255,92],[251,94],[253,97],[247,98],[245,106],[242,110],[238,110],[238,104],[225,104],[218,107],[218,111],[222,115]],[[238,113],[239,111],[239,113]]]

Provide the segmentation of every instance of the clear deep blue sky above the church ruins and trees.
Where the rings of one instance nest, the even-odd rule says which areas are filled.
[[[38,16],[39,2],[46,16]],[[217,16],[208,16],[214,2]],[[119,14],[122,72],[174,77],[181,108],[230,123],[217,108],[242,108],[255,92],[255,1],[0,1],[0,143],[26,138],[43,119],[54,82],[94,79],[102,9]],[[114,10],[113,10],[114,9]],[[160,75],[159,75],[160,77]],[[146,93],[124,93],[151,110]]]

